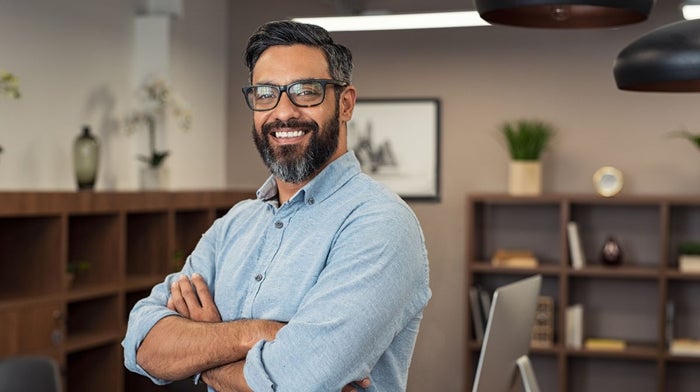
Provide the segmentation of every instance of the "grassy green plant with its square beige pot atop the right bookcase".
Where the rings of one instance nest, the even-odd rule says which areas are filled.
[[[512,195],[542,193],[542,163],[540,157],[554,134],[551,125],[536,120],[505,123],[501,133],[510,154],[508,192]]]

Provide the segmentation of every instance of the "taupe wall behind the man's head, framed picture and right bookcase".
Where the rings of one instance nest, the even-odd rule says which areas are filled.
[[[328,7],[328,2],[287,3],[231,10],[231,185],[257,186],[266,175],[239,91],[247,76],[240,65],[247,35],[264,21]],[[442,101],[442,200],[412,203],[426,234],[434,296],[419,335],[410,391],[463,388],[465,197],[506,191],[508,156],[497,131],[503,121],[539,118],[557,128],[544,159],[545,192],[592,193],[593,172],[613,165],[625,175],[623,193],[700,193],[700,151],[667,136],[679,128],[700,131],[698,95],[622,92],[612,74],[625,45],[680,19],[675,3],[657,1],[649,21],[617,29],[333,34],[353,50],[360,97]]]

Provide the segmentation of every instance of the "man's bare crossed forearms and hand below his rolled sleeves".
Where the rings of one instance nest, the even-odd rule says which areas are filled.
[[[246,354],[256,342],[274,340],[285,325],[270,320],[223,322],[199,274],[173,283],[167,307],[182,317],[166,317],[156,323],[138,349],[138,363],[163,379],[201,373],[202,380],[217,391],[251,391],[243,376]],[[365,378],[356,384],[367,388],[370,381]],[[342,392],[354,390],[349,384]]]

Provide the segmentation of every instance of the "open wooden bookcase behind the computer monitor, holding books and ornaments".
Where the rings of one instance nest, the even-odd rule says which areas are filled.
[[[542,295],[555,300],[554,344],[533,347],[530,358],[543,391],[696,391],[700,357],[671,355],[667,334],[700,339],[700,274],[678,271],[677,246],[700,240],[700,198],[592,195],[467,199],[467,282],[491,293],[536,273]],[[586,265],[570,263],[567,223],[575,221]],[[606,239],[621,245],[623,263],[601,262]],[[496,267],[498,249],[531,250],[535,268]],[[469,307],[469,300],[467,299]],[[667,303],[673,323],[667,324]],[[581,304],[584,338],[621,339],[623,350],[567,347],[566,309]],[[466,320],[467,388],[480,344],[471,309]],[[670,316],[670,315],[668,315]]]

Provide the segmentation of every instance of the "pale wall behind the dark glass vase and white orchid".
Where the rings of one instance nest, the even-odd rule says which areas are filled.
[[[22,99],[0,97],[0,190],[72,190],[72,141],[83,124],[101,141],[98,190],[137,189],[143,135],[120,122],[133,108],[137,0],[1,0],[0,69]],[[193,128],[168,130],[171,187],[225,186],[225,0],[189,1],[171,24],[171,80]]]

